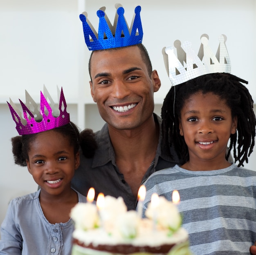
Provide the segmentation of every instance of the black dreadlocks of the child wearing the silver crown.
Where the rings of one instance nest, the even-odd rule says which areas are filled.
[[[167,151],[171,145],[174,146],[181,164],[189,160],[189,151],[184,137],[180,135],[180,112],[184,102],[198,92],[218,95],[230,107],[232,118],[237,116],[237,132],[230,135],[226,159],[233,148],[234,161],[239,162],[238,166],[243,166],[244,161],[248,163],[254,147],[256,120],[252,96],[241,82],[248,84],[229,73],[210,73],[171,87],[162,106],[163,143]]]

